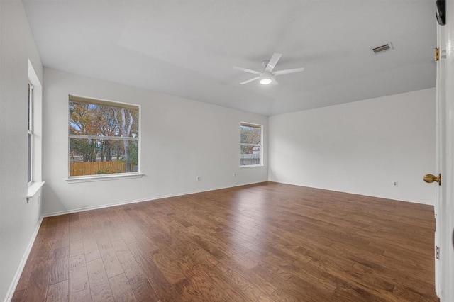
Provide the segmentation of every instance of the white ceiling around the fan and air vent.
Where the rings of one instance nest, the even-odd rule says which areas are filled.
[[[23,0],[45,67],[265,115],[435,86],[434,3]],[[239,84],[274,52],[306,69]]]

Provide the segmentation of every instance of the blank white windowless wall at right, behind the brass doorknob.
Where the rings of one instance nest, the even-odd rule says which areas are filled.
[[[435,101],[424,89],[271,116],[270,181],[433,204]]]

